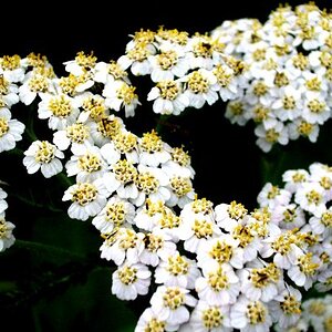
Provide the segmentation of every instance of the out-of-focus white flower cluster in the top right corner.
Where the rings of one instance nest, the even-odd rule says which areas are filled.
[[[211,31],[226,54],[245,63],[243,94],[228,103],[226,117],[252,121],[263,152],[300,136],[315,142],[331,117],[331,13],[313,3],[280,7],[263,24],[240,19]]]

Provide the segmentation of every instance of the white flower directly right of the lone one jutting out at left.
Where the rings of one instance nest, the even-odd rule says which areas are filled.
[[[102,178],[106,173],[107,164],[103,159],[100,148],[96,146],[86,147],[82,153],[73,154],[65,164],[69,177],[76,176],[79,183],[92,183]]]

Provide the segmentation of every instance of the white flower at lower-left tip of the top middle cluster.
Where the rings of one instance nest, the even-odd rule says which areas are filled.
[[[189,106],[189,98],[183,93],[183,86],[177,81],[160,81],[147,95],[148,101],[154,101],[153,110],[157,114],[179,115]]]

